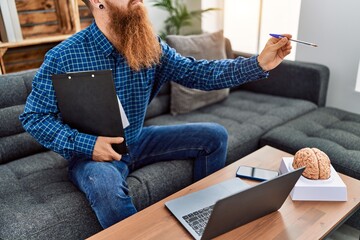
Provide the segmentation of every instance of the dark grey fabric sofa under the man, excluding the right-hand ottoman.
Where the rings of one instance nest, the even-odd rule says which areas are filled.
[[[68,180],[67,161],[40,146],[18,120],[36,70],[0,76],[0,239],[83,239],[101,230],[85,196]],[[329,70],[284,61],[270,78],[231,89],[226,100],[172,116],[170,86],[149,106],[145,125],[212,121],[229,132],[227,164],[255,151],[262,136],[316,111]],[[127,179],[141,210],[192,183],[192,161],[138,169]]]

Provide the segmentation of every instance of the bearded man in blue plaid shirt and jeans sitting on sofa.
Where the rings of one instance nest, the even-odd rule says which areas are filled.
[[[130,171],[155,161],[194,159],[194,181],[222,168],[226,129],[214,123],[144,127],[147,106],[170,80],[213,90],[267,77],[290,53],[288,38],[271,38],[258,56],[196,61],[180,56],[153,32],[142,0],[83,0],[95,21],[51,49],[36,73],[20,120],[45,147],[69,160],[69,178],[85,193],[101,226],[136,213],[128,195]],[[112,69],[116,94],[130,125],[129,154],[111,144],[120,137],[93,136],[71,129],[59,117],[51,76]]]

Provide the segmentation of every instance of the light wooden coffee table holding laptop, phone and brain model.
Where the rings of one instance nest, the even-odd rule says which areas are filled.
[[[265,146],[220,171],[151,205],[89,239],[192,239],[164,203],[235,177],[240,165],[278,170],[289,153]],[[236,228],[216,239],[322,239],[360,208],[360,181],[340,174],[347,186],[347,202],[292,201],[288,197],[279,211]],[[249,181],[250,184],[257,182]],[[264,199],[265,201],[266,199]]]

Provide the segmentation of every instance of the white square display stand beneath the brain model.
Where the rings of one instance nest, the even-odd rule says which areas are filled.
[[[293,157],[283,157],[280,173],[294,171]],[[301,176],[290,193],[294,201],[347,201],[347,188],[339,174],[331,167],[331,176],[326,180],[310,180]]]

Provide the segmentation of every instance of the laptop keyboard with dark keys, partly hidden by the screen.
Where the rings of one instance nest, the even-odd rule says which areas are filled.
[[[194,229],[194,231],[199,236],[202,236],[213,208],[214,205],[202,208],[198,211],[183,216],[183,219],[190,225],[190,227],[192,227],[192,229]]]

